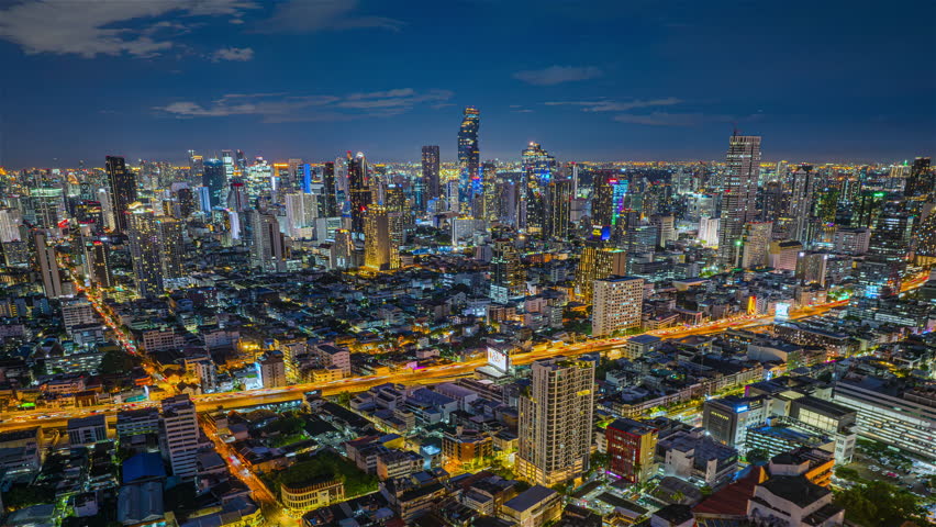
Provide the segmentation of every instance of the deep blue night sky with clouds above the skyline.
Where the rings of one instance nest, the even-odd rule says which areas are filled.
[[[936,145],[936,2],[0,0],[0,165],[892,161]]]

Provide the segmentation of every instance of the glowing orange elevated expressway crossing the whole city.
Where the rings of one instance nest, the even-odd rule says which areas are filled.
[[[910,291],[921,287],[926,281],[926,274],[921,274],[903,285],[903,291]],[[835,307],[842,307],[848,303],[847,300],[828,302],[796,310],[790,316],[791,319],[809,318],[827,313]],[[773,323],[773,315],[745,315],[722,321],[700,324],[692,327],[679,327],[646,332],[646,335],[656,335],[664,339],[682,338],[690,335],[713,335],[727,329],[743,329]],[[559,355],[575,357],[593,351],[608,351],[624,345],[626,338],[592,339],[579,344],[539,345],[532,351],[513,356],[513,363],[517,366],[528,365],[534,360],[556,357]],[[404,370],[388,375],[355,377],[331,381],[326,383],[296,384],[286,388],[245,390],[241,392],[212,393],[196,395],[192,401],[199,412],[214,410],[234,410],[263,404],[283,403],[297,401],[302,394],[313,390],[321,390],[323,395],[336,395],[342,392],[363,392],[371,386],[393,382],[405,385],[433,384],[463,377],[471,377],[475,369],[484,366],[486,359],[473,359],[453,365],[436,366],[422,370]],[[81,408],[68,410],[35,410],[30,412],[5,412],[0,414],[0,431],[18,428],[42,426],[43,428],[59,428],[66,426],[69,418],[87,417],[89,415],[103,414],[109,421],[115,419],[116,414],[123,410],[136,410],[148,406],[158,406],[159,402],[141,402],[124,404],[108,404]]]

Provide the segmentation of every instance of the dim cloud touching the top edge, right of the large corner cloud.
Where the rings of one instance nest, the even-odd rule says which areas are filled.
[[[289,0],[257,27],[258,33],[313,33],[377,27],[400,31],[403,22],[386,16],[357,14],[357,0]]]

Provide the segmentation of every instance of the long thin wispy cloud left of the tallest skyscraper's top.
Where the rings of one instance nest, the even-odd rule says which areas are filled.
[[[411,88],[345,97],[229,93],[210,104],[176,101],[154,110],[178,119],[256,115],[265,123],[344,121],[399,115],[424,103],[444,104],[452,97],[448,90],[417,92]]]

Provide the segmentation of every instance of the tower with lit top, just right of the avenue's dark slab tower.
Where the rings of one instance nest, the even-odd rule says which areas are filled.
[[[163,294],[163,251],[159,228],[153,211],[133,203],[127,211],[127,240],[136,292],[146,299]]]

